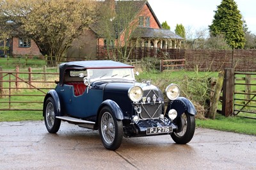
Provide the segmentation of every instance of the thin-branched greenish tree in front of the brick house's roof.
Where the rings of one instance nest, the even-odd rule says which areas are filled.
[[[113,1],[112,1],[113,2]],[[93,29],[105,39],[108,56],[112,59],[129,59],[132,48],[136,45],[138,24],[140,19],[138,13],[141,6],[136,5],[143,1],[115,1],[114,4],[102,3],[101,18]],[[109,8],[110,6],[110,8]],[[117,56],[115,53],[117,50]]]

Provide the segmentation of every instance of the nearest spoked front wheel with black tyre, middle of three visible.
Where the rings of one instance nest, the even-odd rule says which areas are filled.
[[[116,150],[123,139],[123,122],[116,120],[109,107],[103,107],[99,114],[99,133],[103,146],[108,150]]]

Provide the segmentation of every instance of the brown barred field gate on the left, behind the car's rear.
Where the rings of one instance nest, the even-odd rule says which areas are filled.
[[[59,73],[42,72],[4,72],[0,67],[0,111],[42,111],[45,94],[54,88]],[[20,95],[22,90],[22,95]],[[39,105],[36,105],[39,104]]]

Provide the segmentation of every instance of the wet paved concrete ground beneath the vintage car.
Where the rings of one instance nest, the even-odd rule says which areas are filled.
[[[256,136],[196,128],[186,145],[170,135],[123,139],[116,151],[99,132],[43,121],[0,123],[0,169],[256,169]]]

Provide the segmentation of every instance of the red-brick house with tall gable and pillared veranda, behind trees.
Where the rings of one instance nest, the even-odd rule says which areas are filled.
[[[127,3],[127,1],[115,0],[105,0],[105,2],[115,10],[117,15],[121,3]],[[132,34],[136,35],[134,38],[132,37],[133,45],[155,49],[180,49],[183,38],[170,30],[163,29],[148,1],[132,1],[132,3],[136,18],[135,21],[131,20],[131,24],[136,23],[138,27]],[[123,36],[122,31],[116,31],[116,36],[120,36],[120,39]],[[138,37],[140,37],[140,42]],[[100,36],[100,33],[95,31],[92,26],[72,42],[72,46],[67,52],[67,58],[100,59],[102,56],[99,51],[104,49],[107,41],[107,38]]]

